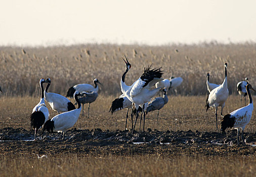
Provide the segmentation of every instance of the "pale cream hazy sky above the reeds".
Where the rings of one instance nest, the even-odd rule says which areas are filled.
[[[0,45],[255,42],[255,8],[241,0],[1,0]]]

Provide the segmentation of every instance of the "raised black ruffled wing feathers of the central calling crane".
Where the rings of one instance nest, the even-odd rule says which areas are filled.
[[[146,83],[143,85],[143,87],[147,86],[150,81],[152,81],[154,78],[161,78],[162,72],[158,69],[151,69],[151,66],[148,66],[147,68],[144,68],[144,73],[141,75],[141,80],[145,81]]]

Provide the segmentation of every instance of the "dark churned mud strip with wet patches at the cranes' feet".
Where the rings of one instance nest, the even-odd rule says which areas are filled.
[[[45,132],[44,140],[38,135],[33,141],[33,132],[24,128],[0,129],[1,155],[48,154],[165,154],[165,155],[254,155],[256,133],[245,133],[246,145],[236,142],[236,130],[227,134],[199,131],[158,131],[147,129],[102,131],[101,129],[76,129],[66,132],[64,140],[60,133]]]

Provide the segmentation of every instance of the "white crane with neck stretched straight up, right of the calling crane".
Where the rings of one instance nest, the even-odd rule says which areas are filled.
[[[209,108],[215,108],[216,109],[216,128],[218,129],[218,121],[217,121],[217,109],[219,106],[222,107],[221,109],[221,115],[223,108],[225,106],[225,102],[229,96],[229,90],[228,90],[228,75],[227,75],[227,63],[225,63],[225,78],[223,83],[216,87],[214,90],[212,90],[209,94],[209,96],[206,99],[206,112]]]

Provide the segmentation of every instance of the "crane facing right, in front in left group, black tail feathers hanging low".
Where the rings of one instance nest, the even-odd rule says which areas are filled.
[[[74,126],[81,112],[81,104],[77,98],[78,95],[80,94],[78,91],[76,91],[74,93],[74,99],[78,104],[77,109],[58,114],[54,116],[51,120],[48,120],[42,128],[42,138],[45,129],[47,129],[48,132],[50,132],[50,130],[52,130],[52,132],[54,130],[62,132],[64,139],[66,130]]]

